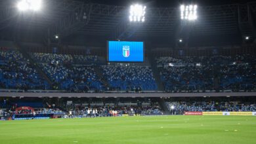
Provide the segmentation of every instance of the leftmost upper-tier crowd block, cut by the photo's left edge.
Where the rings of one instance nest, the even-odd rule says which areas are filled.
[[[15,50],[0,51],[0,88],[45,90],[49,88],[34,66]]]

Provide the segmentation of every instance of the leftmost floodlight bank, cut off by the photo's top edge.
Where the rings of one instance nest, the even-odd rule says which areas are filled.
[[[20,11],[33,10],[37,11],[41,9],[41,0],[20,0],[17,3],[17,8]]]

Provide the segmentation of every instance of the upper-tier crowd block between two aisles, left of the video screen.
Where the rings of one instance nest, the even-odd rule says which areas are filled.
[[[74,55],[73,58],[68,54],[30,53],[30,55],[39,62],[41,69],[53,81],[54,90],[87,92],[103,89],[102,82],[92,66],[75,64],[75,62],[96,62],[97,56]]]

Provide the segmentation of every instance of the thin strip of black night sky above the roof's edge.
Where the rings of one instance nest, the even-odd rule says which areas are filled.
[[[85,1],[85,0],[79,0]],[[181,3],[197,3],[198,5],[226,5],[234,3],[247,3],[255,0],[90,0],[91,3],[106,5],[131,5],[131,3],[144,3],[150,7],[176,7]]]

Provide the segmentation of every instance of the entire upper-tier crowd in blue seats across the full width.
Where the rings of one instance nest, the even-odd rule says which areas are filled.
[[[0,50],[0,88],[18,90],[158,90],[152,69],[142,65],[96,65],[98,56],[30,53],[53,85],[37,73],[22,53]],[[91,62],[94,66],[76,65]],[[256,56],[156,58],[166,92],[256,90]],[[98,77],[94,67],[103,69]],[[44,75],[44,74],[43,74]],[[48,80],[49,81],[49,80]],[[50,82],[51,83],[51,82]],[[109,86],[107,86],[109,85]]]

